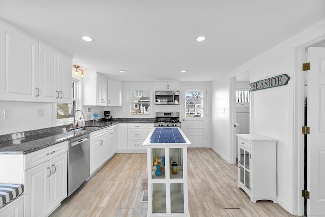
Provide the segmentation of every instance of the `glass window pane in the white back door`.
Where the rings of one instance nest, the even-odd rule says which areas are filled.
[[[204,92],[201,89],[185,90],[186,117],[203,117]]]

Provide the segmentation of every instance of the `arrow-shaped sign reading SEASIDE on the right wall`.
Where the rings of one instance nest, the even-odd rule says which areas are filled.
[[[256,91],[256,90],[287,85],[289,80],[290,80],[290,77],[287,74],[283,74],[283,75],[278,75],[278,76],[275,76],[272,78],[267,78],[264,80],[256,81],[256,82],[249,84],[250,85],[249,91],[252,92],[252,91]]]

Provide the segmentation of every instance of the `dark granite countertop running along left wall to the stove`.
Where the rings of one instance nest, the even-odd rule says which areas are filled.
[[[102,119],[95,124],[92,121],[87,121],[86,126],[98,127],[93,130],[66,130],[71,126],[67,125],[0,135],[0,154],[28,154],[117,123],[153,122],[154,118],[113,118],[110,121]]]

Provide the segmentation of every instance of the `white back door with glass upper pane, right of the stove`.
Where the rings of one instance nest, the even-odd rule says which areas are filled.
[[[207,87],[182,86],[182,131],[192,148],[207,147]]]

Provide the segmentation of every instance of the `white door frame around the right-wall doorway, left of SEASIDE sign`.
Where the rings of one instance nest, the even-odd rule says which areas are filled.
[[[231,164],[236,163],[236,128],[235,120],[236,120],[236,103],[235,103],[235,92],[236,92],[236,77],[239,75],[242,75],[244,73],[249,73],[249,81],[251,81],[252,78],[252,69],[244,68],[242,70],[239,70],[236,73],[233,73],[230,76],[230,90],[229,90],[229,123],[230,123],[230,159],[229,162]],[[249,96],[249,132],[252,133],[251,129],[251,120],[252,120],[252,95]]]

